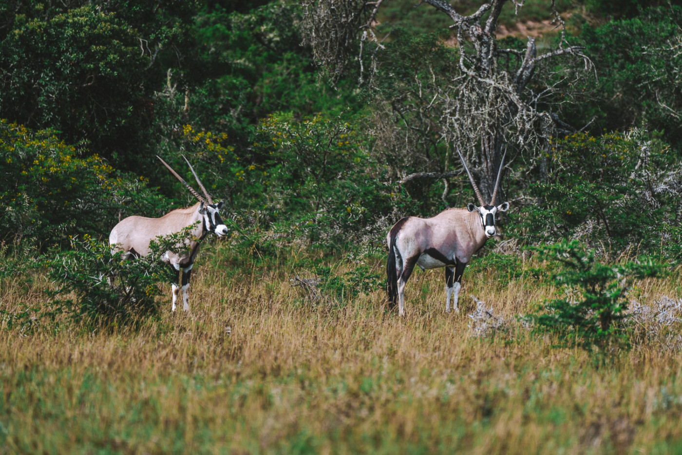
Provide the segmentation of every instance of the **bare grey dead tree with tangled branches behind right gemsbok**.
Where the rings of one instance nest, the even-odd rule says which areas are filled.
[[[435,74],[430,80],[416,80],[419,94],[413,100],[386,103],[413,134],[421,134],[432,141],[433,133],[436,133],[439,141],[456,143],[466,151],[467,160],[477,164],[475,173],[480,181],[479,188],[487,198],[492,196],[503,144],[515,143],[518,149],[530,152],[527,156],[537,158],[540,155],[537,152],[548,147],[552,135],[574,131],[547,106],[552,106],[557,87],[566,87],[581,74],[589,72],[593,65],[582,53],[582,47],[569,46],[564,36],[563,19],[554,0],[548,1],[552,24],[561,31],[561,36],[557,48],[538,54],[533,37],[527,38],[525,50],[519,50],[499,48],[494,34],[505,3],[510,3],[518,13],[524,0],[492,0],[481,4],[468,16],[460,14],[446,1],[423,0],[421,3],[436,8],[452,20],[450,28],[456,31],[460,45],[458,65],[452,68],[448,80],[437,78]],[[374,29],[381,3],[359,0],[303,2],[304,43],[312,47],[318,63],[327,68],[333,78],[341,76],[349,58],[355,55],[360,62],[361,82],[367,81],[371,85],[376,78],[381,78],[381,65],[377,65],[376,59],[371,59],[370,68],[363,63],[368,53],[366,49],[372,48],[376,55],[383,48]],[[557,74],[552,70],[554,65],[548,62],[562,56],[580,59],[582,63],[565,65],[563,74]],[[582,67],[580,72],[576,71],[578,67]],[[543,71],[544,80],[538,83],[534,79]],[[449,157],[443,168],[430,168],[419,177],[402,175],[401,181],[447,178],[452,175],[447,169],[447,159]],[[542,174],[542,160],[536,161]]]

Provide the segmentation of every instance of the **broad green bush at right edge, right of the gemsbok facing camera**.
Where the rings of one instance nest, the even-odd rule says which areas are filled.
[[[531,185],[539,204],[521,209],[518,235],[537,243],[580,238],[602,253],[638,248],[678,257],[677,154],[640,130],[555,140],[546,181]]]

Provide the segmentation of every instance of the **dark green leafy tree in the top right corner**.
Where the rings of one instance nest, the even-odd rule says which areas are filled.
[[[679,146],[682,137],[682,7],[648,8],[638,16],[584,27],[576,42],[597,65],[599,79],[585,86],[571,118],[595,117],[593,134],[643,127],[663,131]],[[582,93],[582,92],[579,92]],[[586,115],[587,114],[587,115]]]

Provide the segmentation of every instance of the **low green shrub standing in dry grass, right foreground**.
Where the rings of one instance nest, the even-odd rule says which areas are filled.
[[[543,312],[527,315],[535,330],[552,332],[562,344],[578,344],[588,350],[609,342],[627,344],[625,293],[634,279],[658,276],[661,267],[651,259],[620,265],[599,263],[595,251],[584,250],[578,241],[533,249],[540,259],[559,264],[552,278],[567,295],[546,302]]]

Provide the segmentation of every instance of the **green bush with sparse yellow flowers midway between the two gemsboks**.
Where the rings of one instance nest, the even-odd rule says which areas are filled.
[[[269,117],[258,133],[262,142],[254,147],[265,160],[250,166],[252,184],[263,186],[256,201],[288,235],[342,243],[390,213],[385,168],[368,153],[360,124]]]

